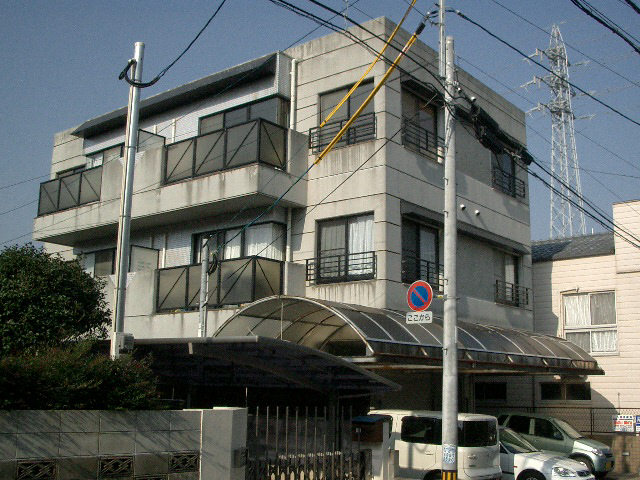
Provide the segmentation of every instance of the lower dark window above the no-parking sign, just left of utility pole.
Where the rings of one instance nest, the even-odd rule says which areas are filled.
[[[440,234],[435,228],[402,220],[402,281],[428,282],[434,290],[443,290],[440,265]]]

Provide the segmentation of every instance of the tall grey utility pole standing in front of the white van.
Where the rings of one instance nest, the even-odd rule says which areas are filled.
[[[444,335],[442,342],[442,479],[458,477],[458,289],[456,250],[455,70],[453,37],[446,39],[444,161]],[[441,52],[442,55],[442,52]]]

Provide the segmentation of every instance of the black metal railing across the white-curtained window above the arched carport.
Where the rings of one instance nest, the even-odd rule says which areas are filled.
[[[351,254],[320,253],[307,260],[307,281],[337,283],[376,278],[375,252]]]

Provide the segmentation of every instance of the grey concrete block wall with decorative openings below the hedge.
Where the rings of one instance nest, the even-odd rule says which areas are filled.
[[[244,409],[0,411],[0,478],[240,479],[246,428]]]

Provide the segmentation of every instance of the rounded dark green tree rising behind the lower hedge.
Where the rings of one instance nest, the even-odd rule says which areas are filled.
[[[0,252],[0,354],[106,334],[104,281],[31,244]]]

